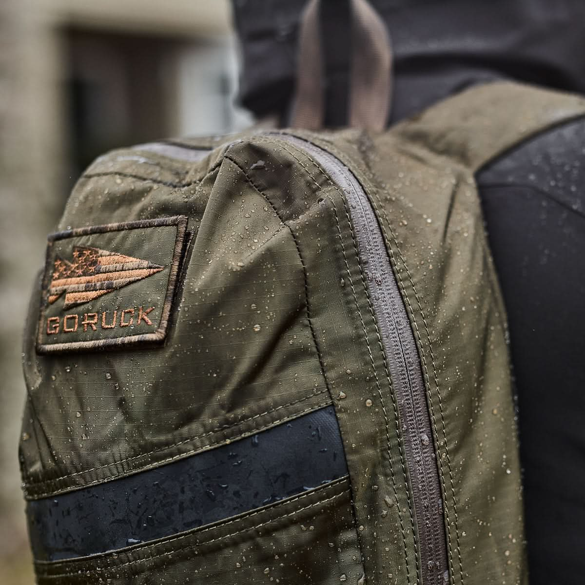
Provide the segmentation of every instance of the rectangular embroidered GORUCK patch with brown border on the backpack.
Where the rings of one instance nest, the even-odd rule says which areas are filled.
[[[175,216],[49,236],[37,352],[163,342],[186,229]]]

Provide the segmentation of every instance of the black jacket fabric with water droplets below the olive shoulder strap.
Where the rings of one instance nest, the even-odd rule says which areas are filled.
[[[581,583],[585,524],[585,121],[477,176],[510,324],[531,583]]]

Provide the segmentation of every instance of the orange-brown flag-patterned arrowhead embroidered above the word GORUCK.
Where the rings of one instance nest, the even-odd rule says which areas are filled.
[[[49,304],[65,293],[64,309],[77,307],[156,274],[164,266],[108,250],[74,246],[73,261],[57,258],[49,285]]]

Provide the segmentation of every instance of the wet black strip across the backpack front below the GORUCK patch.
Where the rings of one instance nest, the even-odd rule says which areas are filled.
[[[165,466],[27,504],[37,560],[107,552],[210,524],[347,474],[333,407]]]

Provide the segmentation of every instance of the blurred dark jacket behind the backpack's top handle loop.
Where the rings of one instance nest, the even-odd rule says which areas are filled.
[[[233,0],[241,40],[240,98],[258,116],[284,115],[294,90],[298,25],[307,0]],[[324,4],[328,4],[325,2]],[[327,30],[345,0],[329,0]],[[474,83],[509,78],[585,93],[580,0],[371,0],[393,42],[392,121]],[[346,91],[346,37],[327,35],[328,105]],[[330,48],[331,47],[331,48]],[[345,52],[344,52],[345,50]],[[343,124],[343,120],[332,122]]]

